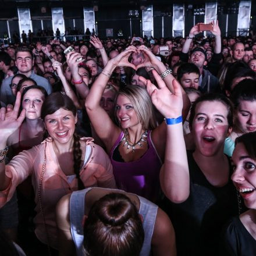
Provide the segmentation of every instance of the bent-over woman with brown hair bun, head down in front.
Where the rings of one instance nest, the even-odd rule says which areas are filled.
[[[122,190],[89,188],[56,207],[60,256],[173,256],[175,233],[157,205]],[[83,226],[84,222],[84,226]]]

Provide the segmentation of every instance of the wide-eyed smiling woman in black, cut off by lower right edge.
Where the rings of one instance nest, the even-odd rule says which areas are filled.
[[[236,139],[232,180],[248,211],[233,217],[223,229],[219,255],[256,255],[256,133]]]

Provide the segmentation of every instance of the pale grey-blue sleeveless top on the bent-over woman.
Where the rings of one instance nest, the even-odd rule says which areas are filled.
[[[85,196],[88,191],[93,189],[89,187],[88,189],[74,191],[71,194],[69,202],[69,212],[70,212],[70,231],[72,234],[72,239],[76,247],[76,255],[83,256],[83,240],[84,240],[84,230],[82,226],[82,220],[84,216],[84,203]],[[113,190],[113,192],[118,192],[119,190]],[[138,196],[140,200],[139,214],[143,216],[143,229],[144,229],[144,242],[141,248],[140,256],[149,256],[151,251],[151,239],[154,232],[155,219],[157,218],[158,206],[148,201],[147,199]]]

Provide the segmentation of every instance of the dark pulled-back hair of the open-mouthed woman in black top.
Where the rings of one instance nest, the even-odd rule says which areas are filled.
[[[189,125],[192,127],[192,123],[195,117],[195,108],[197,104],[204,102],[204,101],[219,101],[222,104],[224,104],[227,108],[227,123],[229,127],[233,127],[234,125],[234,107],[230,99],[225,97],[223,94],[217,94],[217,93],[208,93],[203,94],[199,98],[195,100],[195,102],[192,104],[190,109],[190,117],[189,117]]]

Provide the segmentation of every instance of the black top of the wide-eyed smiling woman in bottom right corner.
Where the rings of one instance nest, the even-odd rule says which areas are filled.
[[[230,219],[225,225],[221,236],[220,255],[256,255],[256,240],[241,223],[239,217]]]

